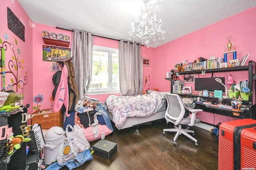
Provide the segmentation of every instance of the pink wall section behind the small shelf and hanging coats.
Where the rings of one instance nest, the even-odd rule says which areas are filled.
[[[52,76],[54,71],[50,71],[50,61],[43,61],[42,46],[46,45],[42,39],[42,30],[48,32],[55,32],[70,36],[70,45],[72,44],[72,32],[66,30],[56,29],[53,26],[34,23],[33,28],[33,109],[50,109],[53,101],[51,99],[54,85],[52,83]],[[56,45],[50,45],[56,46]]]

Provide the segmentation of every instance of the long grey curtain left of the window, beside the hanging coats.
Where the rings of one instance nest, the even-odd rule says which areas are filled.
[[[80,100],[84,99],[88,93],[91,82],[93,40],[94,37],[90,32],[75,29],[72,33],[71,56],[74,56],[72,63],[76,73],[75,81]]]

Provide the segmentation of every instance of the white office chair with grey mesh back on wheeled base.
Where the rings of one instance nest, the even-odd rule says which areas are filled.
[[[176,139],[180,134],[184,134],[190,139],[195,141],[195,146],[198,146],[197,140],[193,137],[194,130],[187,130],[182,128],[182,125],[194,126],[194,123],[200,123],[200,119],[196,118],[196,113],[199,111],[203,111],[202,109],[189,109],[192,113],[191,118],[184,118],[185,108],[182,104],[180,96],[173,93],[165,93],[167,99],[167,109],[165,113],[166,122],[174,123],[175,128],[168,128],[163,130],[163,134],[165,132],[177,132],[173,139],[173,145],[176,146]],[[177,127],[178,126],[178,127]],[[192,133],[193,136],[188,134],[188,132]]]

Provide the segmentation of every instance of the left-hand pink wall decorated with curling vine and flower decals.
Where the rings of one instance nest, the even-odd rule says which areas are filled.
[[[8,29],[7,7],[25,26],[25,42]],[[0,5],[0,47],[4,47],[6,58],[6,89],[13,87],[14,91],[24,93],[23,104],[30,104],[28,113],[32,113],[33,104],[33,61],[32,55],[32,27],[33,24],[18,1],[4,0]],[[6,45],[6,46],[5,46]],[[0,70],[0,89],[2,84],[2,69]]]

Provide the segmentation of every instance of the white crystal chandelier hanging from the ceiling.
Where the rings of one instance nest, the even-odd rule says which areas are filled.
[[[162,36],[164,39],[165,30],[162,30],[161,26],[163,24],[162,20],[156,20],[156,14],[153,14],[153,8],[149,3],[149,0],[144,0],[144,4],[141,5],[138,16],[135,18],[135,23],[132,22],[132,26],[130,26],[129,40],[132,37],[132,41],[134,42],[134,38],[137,36],[142,40],[142,45],[144,43],[149,47],[150,40],[149,38],[153,37],[155,41],[155,35]]]

